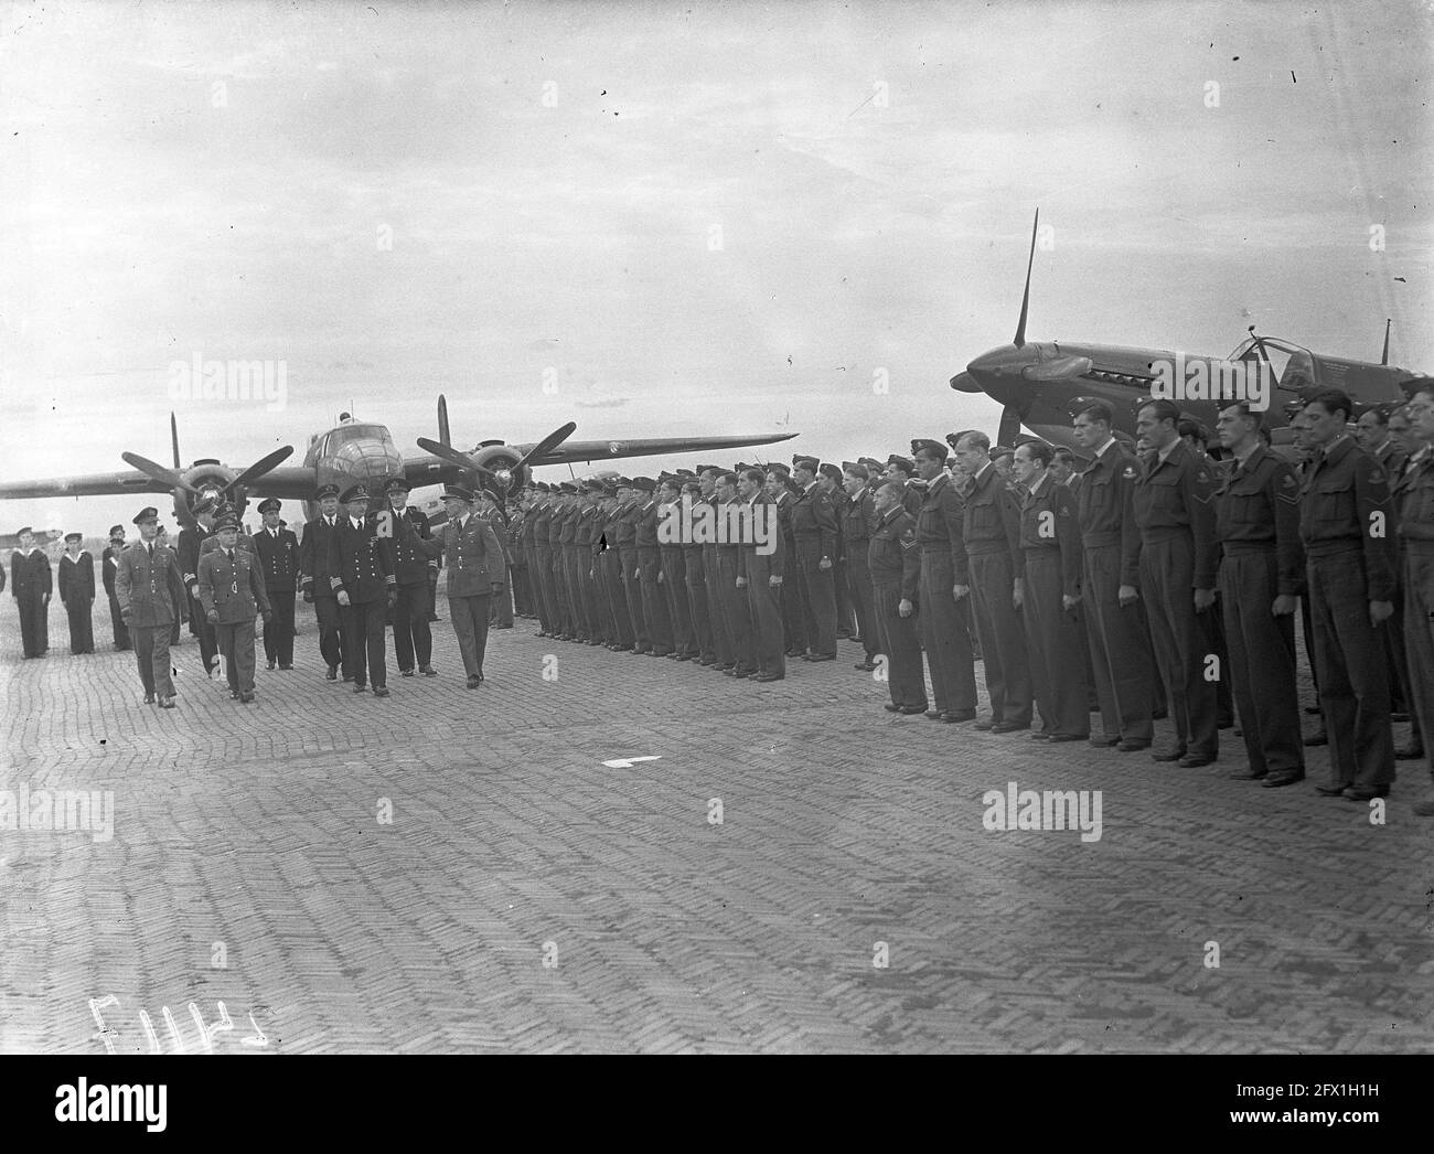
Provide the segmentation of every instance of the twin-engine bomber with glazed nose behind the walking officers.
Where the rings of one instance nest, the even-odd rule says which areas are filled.
[[[770,444],[789,440],[796,433],[731,436],[731,437],[638,437],[632,440],[574,442],[568,440],[576,426],[571,421],[532,444],[505,444],[500,440],[479,442],[463,453],[452,447],[447,401],[439,397],[439,440],[420,439],[433,454],[406,457],[393,443],[387,426],[360,421],[348,413],[338,423],[308,439],[303,464],[284,466],[293,446],[275,449],[247,469],[221,464],[212,457],[195,460],[184,467],[179,460],[179,429],[169,414],[169,437],[174,467],[120,453],[132,466],[128,472],[99,473],[52,480],[26,480],[0,485],[0,500],[33,497],[83,497],[116,493],[172,493],[175,516],[188,523],[194,506],[206,499],[222,497],[232,503],[239,516],[251,496],[303,500],[308,516],[314,515],[310,500],[320,485],[366,483],[381,490],[383,483],[402,476],[410,486],[476,483],[499,497],[499,506],[509,492],[522,489],[539,464],[566,464],[619,457],[661,456],[665,453],[695,453],[708,449],[733,449],[747,444]]]

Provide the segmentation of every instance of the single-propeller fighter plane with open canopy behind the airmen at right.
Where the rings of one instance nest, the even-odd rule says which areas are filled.
[[[1266,424],[1276,444],[1288,440],[1286,426],[1299,400],[1321,388],[1342,388],[1354,401],[1364,404],[1397,404],[1404,400],[1400,386],[1414,374],[1390,366],[1388,323],[1380,364],[1316,354],[1291,341],[1256,335],[1253,327],[1249,330],[1250,335],[1229,357],[1108,344],[1027,341],[1025,320],[1031,307],[1031,267],[1035,261],[1040,219],[1037,209],[1014,340],[982,353],[967,366],[965,373],[951,378],[952,388],[961,393],[985,393],[1002,406],[997,433],[1001,444],[1014,444],[1024,424],[1051,444],[1074,449],[1070,403],[1077,397],[1106,401],[1114,414],[1116,427],[1134,434],[1133,403],[1143,396],[1162,396],[1162,386],[1176,383],[1180,391],[1169,399],[1186,416],[1213,430],[1223,406],[1217,400],[1199,399],[1200,388],[1190,388],[1187,396],[1184,386],[1193,386],[1197,380],[1206,383],[1206,397],[1230,396],[1229,388],[1212,393],[1212,383],[1266,383]]]

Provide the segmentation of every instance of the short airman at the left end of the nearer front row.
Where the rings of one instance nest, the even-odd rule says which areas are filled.
[[[906,482],[885,477],[873,490],[876,526],[872,529],[866,568],[872,573],[872,616],[878,644],[886,659],[889,712],[926,712],[926,678],[916,636],[916,604],[921,585],[921,545],[916,522],[902,505]]]

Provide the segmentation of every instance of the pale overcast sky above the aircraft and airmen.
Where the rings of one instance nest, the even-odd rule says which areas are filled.
[[[994,431],[946,381],[1037,206],[1032,338],[1377,360],[1394,317],[1428,371],[1428,7],[13,4],[0,469],[168,463],[172,407],[185,463],[301,457],[350,400],[417,453],[439,391],[465,446]],[[196,353],[284,361],[285,409],[171,401]]]

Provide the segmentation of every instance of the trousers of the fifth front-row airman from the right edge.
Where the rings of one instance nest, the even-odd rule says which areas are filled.
[[[1086,583],[1081,591],[1086,636],[1106,740],[1119,737],[1149,745],[1154,740],[1154,723],[1150,720],[1154,668],[1139,606],[1120,605],[1120,545],[1086,546]]]

